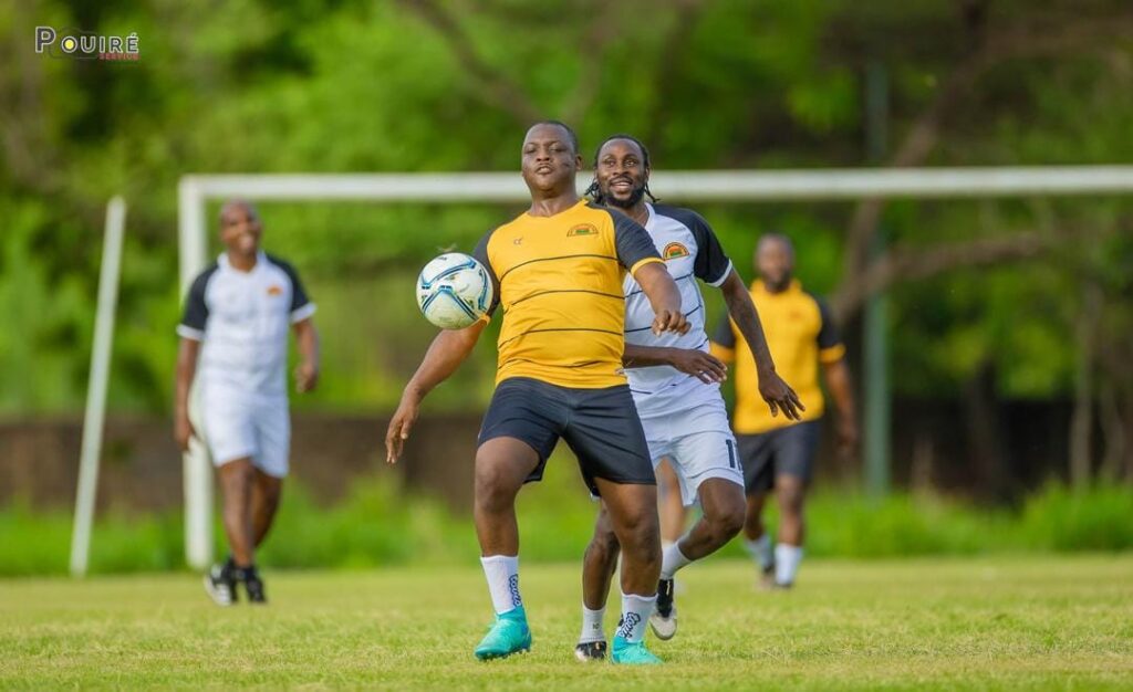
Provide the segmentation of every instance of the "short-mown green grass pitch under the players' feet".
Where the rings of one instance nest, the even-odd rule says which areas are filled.
[[[523,569],[535,647],[489,664],[474,565],[267,572],[270,606],[229,609],[189,574],[6,580],[0,686],[1133,690],[1133,555],[810,561],[787,593],[741,561],[682,574],[655,669],[574,661],[576,565]]]

